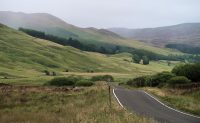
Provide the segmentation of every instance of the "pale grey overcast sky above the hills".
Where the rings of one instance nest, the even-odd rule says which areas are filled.
[[[0,11],[50,13],[76,26],[97,28],[200,22],[200,0],[0,0]]]

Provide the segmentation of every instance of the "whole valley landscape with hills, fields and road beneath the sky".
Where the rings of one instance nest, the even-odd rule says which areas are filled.
[[[166,107],[200,115],[198,25],[83,28],[0,11],[0,121],[197,123]]]

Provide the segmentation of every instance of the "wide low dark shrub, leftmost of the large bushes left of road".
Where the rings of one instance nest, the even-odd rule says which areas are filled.
[[[78,78],[70,76],[70,77],[57,77],[52,79],[47,83],[47,85],[54,85],[54,86],[72,86],[75,85]]]

